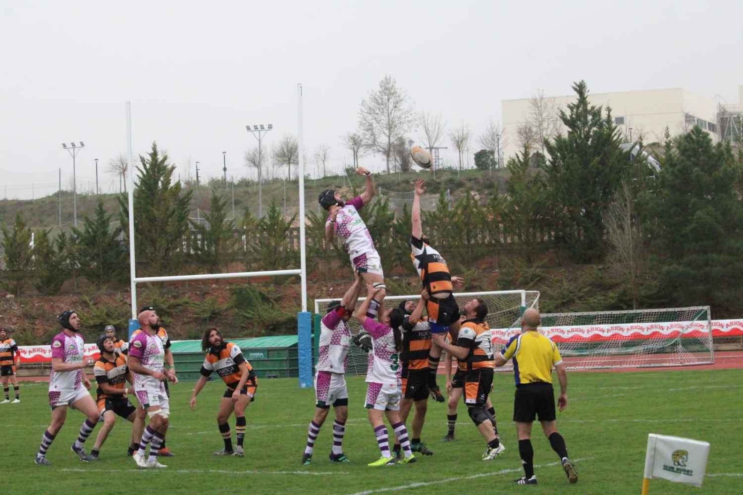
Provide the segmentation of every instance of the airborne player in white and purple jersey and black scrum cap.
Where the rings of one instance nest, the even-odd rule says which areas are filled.
[[[333,189],[325,189],[317,198],[320,206],[329,213],[325,222],[325,241],[330,244],[338,237],[343,243],[343,249],[348,252],[354,272],[360,273],[365,283],[385,288],[382,261],[374,247],[374,239],[359,214],[359,210],[376,194],[374,178],[363,167],[357,168],[356,173],[366,177],[366,189],[359,196],[345,201]],[[380,301],[371,301],[369,317],[376,318],[379,312]]]

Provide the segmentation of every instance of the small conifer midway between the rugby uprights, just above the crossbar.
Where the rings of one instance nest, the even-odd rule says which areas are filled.
[[[222,267],[227,267],[237,244],[235,219],[227,218],[227,199],[223,200],[215,190],[212,190],[209,209],[202,223],[190,220],[196,234],[192,237],[192,252],[201,266],[210,273],[218,273]]]

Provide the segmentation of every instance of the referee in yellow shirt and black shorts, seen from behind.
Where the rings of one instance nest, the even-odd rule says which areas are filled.
[[[537,331],[541,324],[539,311],[527,309],[522,317],[522,332],[514,335],[500,354],[496,354],[496,367],[501,367],[513,358],[513,375],[516,378],[516,399],[513,402],[513,421],[519,435],[519,455],[524,465],[524,474],[516,482],[519,485],[536,485],[534,475],[534,450],[531,447],[531,424],[539,416],[542,431],[549,439],[552,450],[562,461],[562,469],[571,483],[578,481],[573,462],[568,459],[565,439],[557,433],[555,422],[555,398],[552,390],[552,367],[557,370],[560,394],[559,410],[568,405],[568,375],[557,346]]]

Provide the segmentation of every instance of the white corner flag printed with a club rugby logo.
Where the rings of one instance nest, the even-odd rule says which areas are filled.
[[[709,453],[707,442],[650,433],[644,477],[701,486]]]

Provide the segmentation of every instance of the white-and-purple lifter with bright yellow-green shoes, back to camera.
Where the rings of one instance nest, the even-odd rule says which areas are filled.
[[[377,445],[382,456],[369,466],[394,465],[395,462],[415,462],[410,450],[410,440],[405,423],[400,420],[400,398],[402,397],[402,385],[400,374],[400,351],[403,350],[403,335],[400,325],[403,324],[405,313],[400,308],[388,309],[380,315],[379,322],[366,316],[366,309],[373,299],[382,301],[385,296],[384,289],[378,289],[366,284],[366,300],[356,312],[356,318],[364,329],[371,335],[371,352],[369,352],[369,363],[366,371],[366,382],[369,384],[366,390],[366,409],[369,410],[369,422],[374,428],[374,436],[377,437]],[[395,436],[400,440],[405,456],[397,461],[389,451],[389,433],[384,425],[383,416],[387,416]]]

